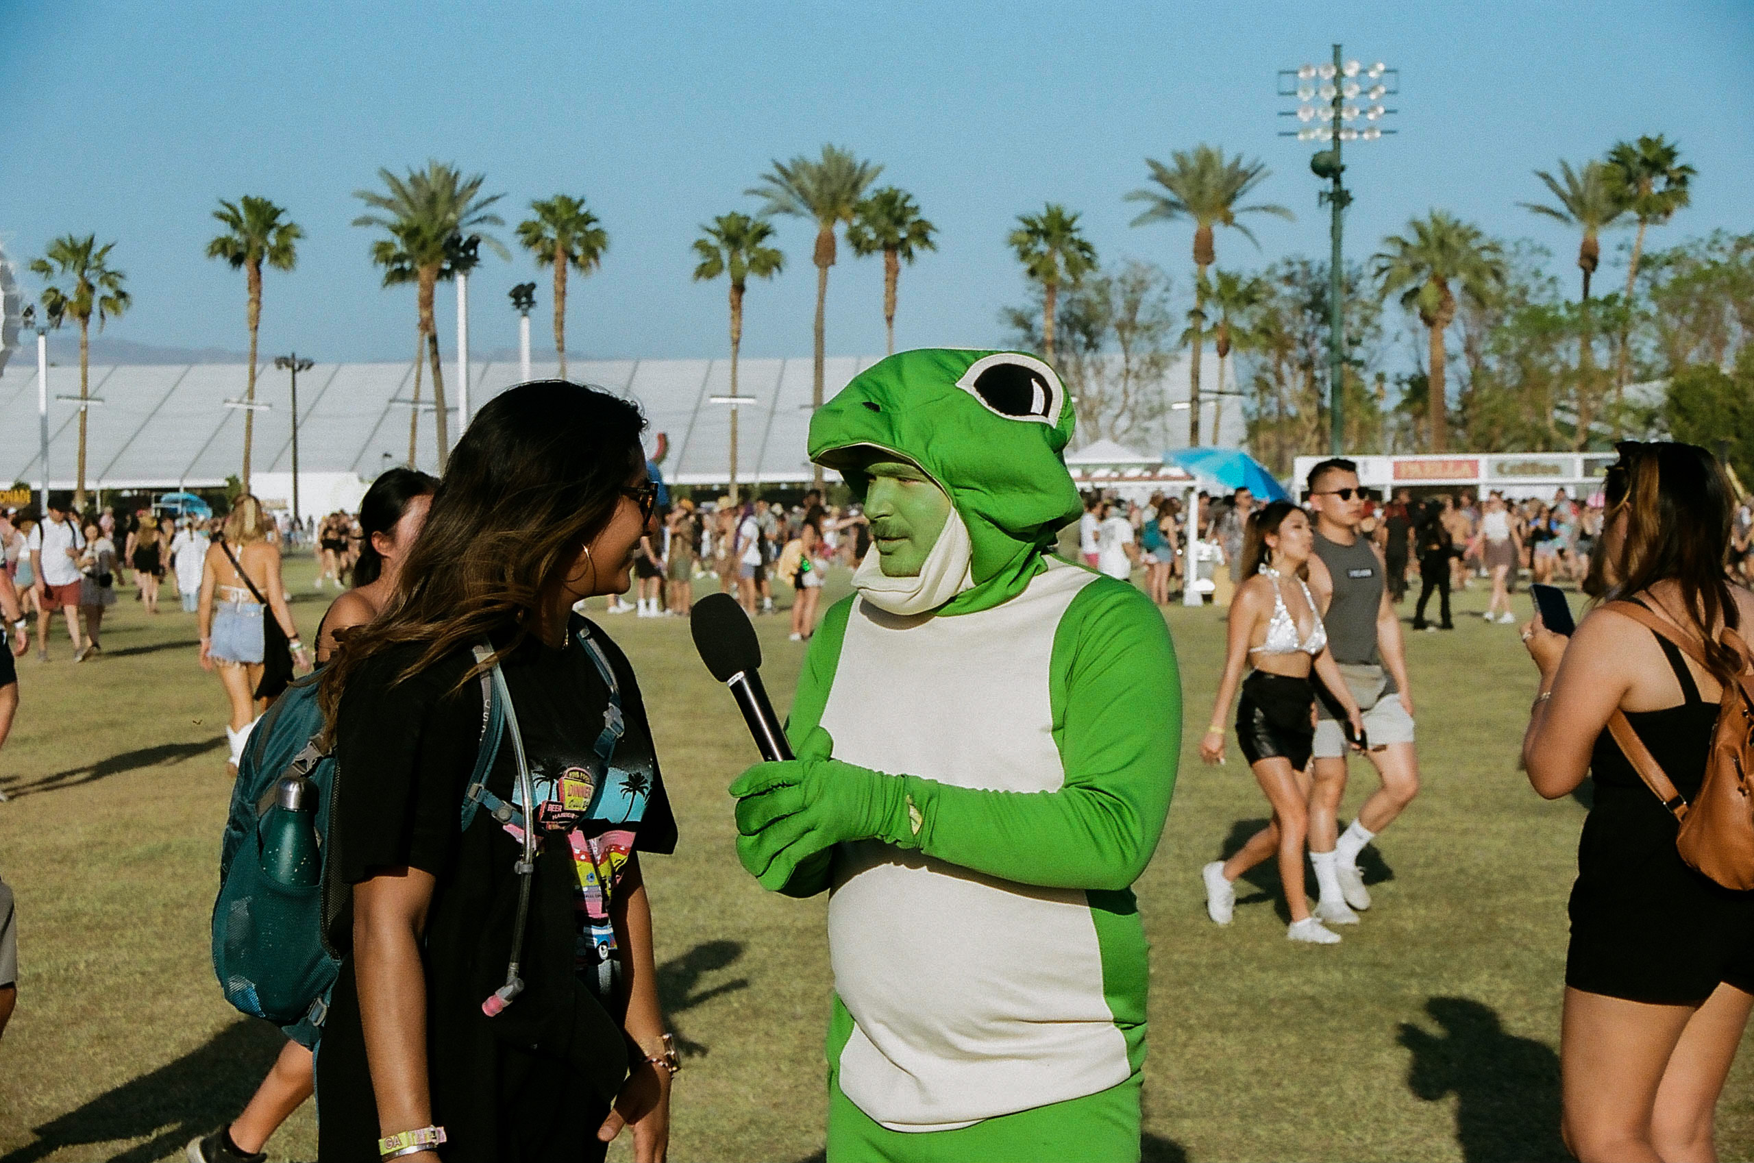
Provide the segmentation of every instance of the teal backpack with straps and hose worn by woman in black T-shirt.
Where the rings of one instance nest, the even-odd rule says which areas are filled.
[[[602,647],[582,626],[579,646],[609,686],[609,709],[596,754],[609,763],[624,731],[621,686]],[[475,661],[493,656],[477,646]],[[340,954],[328,944],[335,902],[324,898],[330,810],[335,796],[335,756],[323,751],[323,710],[317,707],[319,674],[296,679],[251,731],[232,786],[232,812],[219,845],[219,896],[214,900],[214,974],[226,1002],[251,1017],[267,1017],[295,1042],[314,1047],[328,1016],[330,988],[340,972]],[[489,1017],[523,991],[517,975],[530,877],[535,874],[535,835],[524,828],[521,805],[535,800],[517,714],[498,665],[481,675],[482,730],[475,768],[460,812],[467,830],[479,809],[498,823],[521,830],[517,921],[505,986],[482,1002]],[[517,768],[517,802],[488,791],[488,774],[510,735]]]

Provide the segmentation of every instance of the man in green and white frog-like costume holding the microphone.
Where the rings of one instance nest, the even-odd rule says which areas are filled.
[[[1040,360],[907,351],[810,421],[875,553],[810,642],[798,758],[731,784],[770,889],[831,889],[828,1158],[1137,1159],[1145,933],[1175,786],[1168,630],[1045,556],[1077,519]]]

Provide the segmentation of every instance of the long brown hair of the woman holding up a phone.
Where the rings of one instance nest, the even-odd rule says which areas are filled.
[[[1661,581],[1680,588],[1680,602],[1719,682],[1733,682],[1740,663],[1717,640],[1717,626],[1742,617],[1729,593],[1729,540],[1735,503],[1717,458],[1696,444],[1617,446],[1608,468],[1608,514],[1626,510],[1626,539],[1612,567],[1617,582],[1605,596],[1631,598]]]

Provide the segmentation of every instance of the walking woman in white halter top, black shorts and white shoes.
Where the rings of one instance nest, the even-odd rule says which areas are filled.
[[[1242,575],[1230,602],[1230,647],[1217,688],[1212,726],[1200,740],[1200,758],[1224,761],[1224,712],[1242,686],[1237,705],[1237,744],[1273,809],[1273,821],[1230,860],[1200,870],[1207,914],[1230,924],[1237,905],[1237,877],[1279,854],[1279,882],[1286,889],[1291,928],[1286,937],[1314,945],[1338,944],[1340,935],[1310,916],[1303,895],[1303,844],[1308,835],[1308,761],[1316,740],[1314,670],[1345,710],[1354,738],[1363,735],[1358,700],[1340,677],[1328,651],[1316,600],[1303,577],[1316,546],[1308,516],[1291,502],[1275,500],[1249,516],[1242,546]],[[1252,665],[1249,677],[1242,677]]]

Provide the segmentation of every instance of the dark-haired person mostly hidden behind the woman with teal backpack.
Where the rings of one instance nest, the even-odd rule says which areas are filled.
[[[402,581],[402,561],[421,535],[426,509],[438,481],[412,468],[389,468],[365,491],[360,502],[360,528],[365,532],[360,561],[353,568],[353,589],[335,598],[317,623],[317,667],[342,649],[342,631],[365,626],[389,603]],[[298,1110],[316,1088],[312,1051],[321,1028],[309,1019],[284,1028],[286,1045],[268,1075],[256,1088],[242,1114],[210,1135],[191,1142],[184,1154],[189,1163],[263,1163],[268,1138]]]

